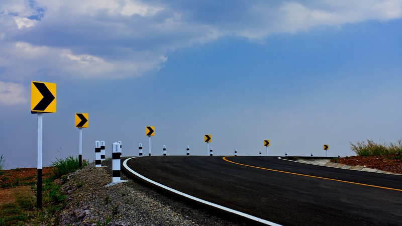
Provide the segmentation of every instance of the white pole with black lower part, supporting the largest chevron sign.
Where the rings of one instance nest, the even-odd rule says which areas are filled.
[[[37,112],[38,117],[38,168],[36,170],[36,207],[42,208],[42,135],[43,135],[43,115]]]

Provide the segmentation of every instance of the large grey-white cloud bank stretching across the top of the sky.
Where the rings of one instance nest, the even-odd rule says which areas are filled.
[[[139,76],[163,67],[168,51],[225,35],[263,41],[275,33],[402,16],[400,0],[209,4],[4,0],[0,3],[0,66],[7,69],[0,76]]]

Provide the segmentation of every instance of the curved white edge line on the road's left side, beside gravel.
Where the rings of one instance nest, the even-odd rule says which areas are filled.
[[[143,175],[141,175],[141,174],[135,172],[134,170],[130,169],[130,168],[127,166],[127,161],[128,161],[128,160],[133,159],[133,158],[139,158],[139,157],[143,157],[143,156],[137,156],[137,157],[132,157],[132,158],[126,159],[126,160],[123,162],[123,166],[124,166],[128,171],[132,172],[134,175],[140,177],[141,179],[143,179],[143,180],[145,180],[145,181],[148,181],[148,182],[150,182],[150,183],[152,183],[152,184],[155,184],[156,186],[159,186],[159,187],[161,187],[161,188],[164,188],[164,189],[166,189],[166,190],[169,190],[169,191],[171,191],[171,192],[173,192],[173,193],[176,193],[176,194],[178,194],[178,195],[182,195],[182,196],[184,196],[184,197],[186,197],[186,198],[189,198],[189,199],[192,199],[192,200],[194,200],[194,201],[198,201],[198,202],[201,202],[201,203],[204,203],[204,204],[207,204],[207,205],[211,205],[211,206],[213,206],[213,207],[216,207],[216,208],[219,208],[219,209],[222,209],[222,210],[231,212],[231,213],[235,213],[235,214],[237,214],[237,215],[244,216],[244,217],[246,217],[246,218],[249,218],[249,219],[252,219],[252,220],[261,222],[261,223],[265,223],[265,224],[272,225],[272,226],[281,226],[281,224],[277,224],[277,223],[274,223],[274,222],[271,222],[271,221],[268,221],[268,220],[264,220],[264,219],[258,218],[258,217],[256,217],[256,216],[252,216],[252,215],[247,214],[247,213],[244,213],[244,212],[240,212],[240,211],[237,211],[237,210],[234,210],[234,209],[231,209],[231,208],[222,206],[222,205],[218,205],[218,204],[215,204],[215,203],[212,203],[212,202],[209,202],[209,201],[206,201],[206,200],[203,200],[203,199],[200,199],[200,198],[191,196],[191,195],[189,195],[189,194],[180,192],[180,191],[178,191],[178,190],[175,190],[175,189],[173,189],[173,188],[170,188],[170,187],[167,187],[167,186],[165,186],[165,185],[163,185],[163,184],[160,184],[160,183],[158,183],[158,182],[155,182],[155,181],[153,181],[153,180],[151,180],[151,179],[148,179],[148,178],[144,177]]]

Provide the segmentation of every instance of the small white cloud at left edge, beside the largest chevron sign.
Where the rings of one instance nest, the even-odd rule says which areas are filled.
[[[0,81],[0,105],[17,105],[27,103],[25,87],[14,82]]]

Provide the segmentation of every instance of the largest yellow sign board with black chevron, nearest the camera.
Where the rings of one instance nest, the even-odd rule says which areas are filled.
[[[31,111],[56,112],[56,83],[31,82]]]

